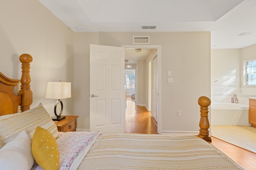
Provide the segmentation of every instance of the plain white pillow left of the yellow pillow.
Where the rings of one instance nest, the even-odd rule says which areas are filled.
[[[30,170],[33,164],[31,141],[26,131],[0,149],[0,170]]]

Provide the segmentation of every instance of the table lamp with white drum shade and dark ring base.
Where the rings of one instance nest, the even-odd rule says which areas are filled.
[[[47,82],[46,96],[48,99],[58,99],[54,106],[54,114],[56,117],[52,117],[53,121],[60,121],[65,119],[65,116],[61,116],[63,111],[63,103],[60,99],[71,98],[71,83],[70,82]],[[58,104],[61,104],[60,113],[56,113]]]

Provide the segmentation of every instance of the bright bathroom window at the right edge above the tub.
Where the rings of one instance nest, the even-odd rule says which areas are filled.
[[[256,60],[246,61],[246,85],[256,85]]]

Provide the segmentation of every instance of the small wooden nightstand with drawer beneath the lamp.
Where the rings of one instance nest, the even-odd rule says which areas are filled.
[[[55,121],[58,131],[59,132],[76,131],[78,117],[79,116],[66,116],[66,118],[62,119],[61,121],[57,121],[57,122]]]

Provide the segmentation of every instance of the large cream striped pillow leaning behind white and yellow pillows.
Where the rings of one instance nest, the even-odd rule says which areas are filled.
[[[0,116],[0,148],[15,139],[23,130],[32,140],[38,126],[47,129],[55,138],[58,138],[58,129],[41,103],[22,113]]]

